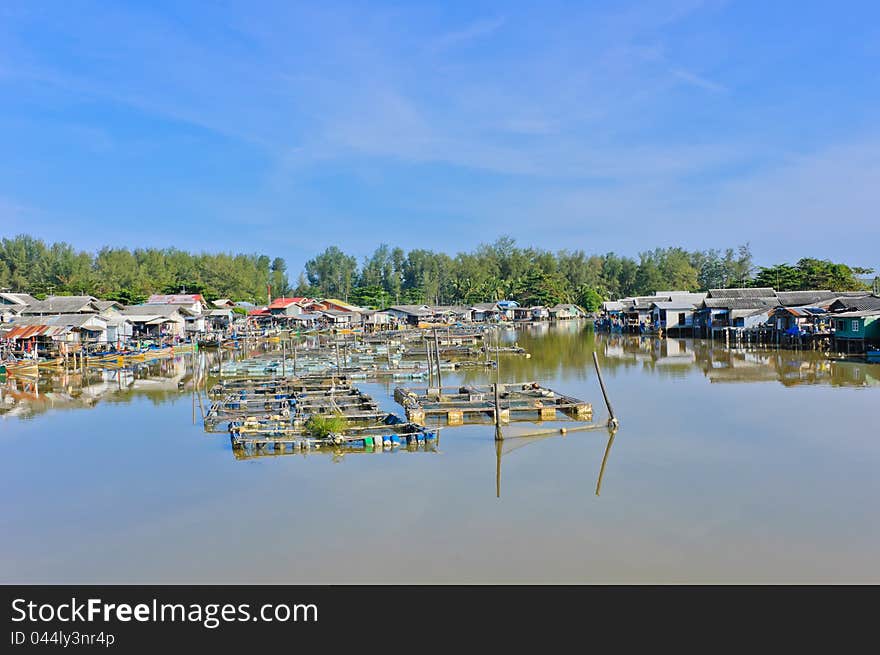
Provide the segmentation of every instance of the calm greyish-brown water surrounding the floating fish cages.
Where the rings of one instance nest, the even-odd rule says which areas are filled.
[[[36,402],[7,384],[0,581],[880,582],[880,366],[575,323],[505,338],[532,356],[502,355],[503,380],[602,422],[595,348],[621,427],[610,449],[506,427],[500,497],[491,426],[445,429],[436,454],[238,460],[194,423],[184,359],[41,381]]]

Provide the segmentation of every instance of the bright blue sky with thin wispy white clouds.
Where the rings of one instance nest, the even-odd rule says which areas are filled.
[[[0,5],[0,236],[880,267],[880,4]]]

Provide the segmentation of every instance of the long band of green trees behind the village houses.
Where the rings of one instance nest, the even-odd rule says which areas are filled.
[[[0,289],[34,295],[84,293],[126,303],[151,293],[266,302],[280,295],[336,297],[373,307],[473,304],[501,299],[524,305],[575,303],[595,310],[609,298],[662,290],[770,286],[779,291],[866,289],[868,268],[804,258],[756,267],[748,244],[694,250],[656,248],[638,258],[522,248],[510,237],[449,255],[382,244],[359,263],[330,246],[308,260],[296,285],[281,257],[193,254],[175,248],[78,251],[27,235],[0,240]]]

